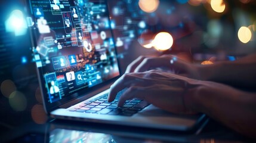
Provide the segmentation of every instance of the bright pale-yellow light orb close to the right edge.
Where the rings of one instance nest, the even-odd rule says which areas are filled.
[[[248,43],[252,38],[251,30],[248,27],[242,26],[238,30],[238,38],[243,43]]]

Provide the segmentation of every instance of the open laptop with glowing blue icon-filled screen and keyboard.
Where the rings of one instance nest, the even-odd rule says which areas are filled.
[[[27,0],[27,5],[42,99],[51,117],[178,131],[202,125],[204,114],[171,114],[138,99],[118,107],[122,91],[107,102],[121,71],[106,1]]]

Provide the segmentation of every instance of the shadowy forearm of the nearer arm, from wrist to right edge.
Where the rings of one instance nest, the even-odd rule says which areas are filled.
[[[185,96],[185,103],[194,111],[205,113],[237,132],[256,136],[256,94],[226,85],[217,86],[208,82],[192,89]]]

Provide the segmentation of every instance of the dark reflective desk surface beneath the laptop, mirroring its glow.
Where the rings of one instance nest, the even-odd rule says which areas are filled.
[[[213,120],[200,133],[51,120],[42,125],[27,123],[0,136],[1,142],[55,142],[56,139],[63,142],[253,142]]]

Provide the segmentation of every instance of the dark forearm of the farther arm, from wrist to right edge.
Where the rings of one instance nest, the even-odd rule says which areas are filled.
[[[256,61],[223,61],[199,66],[201,80],[227,83],[229,85],[253,88],[256,79]]]

